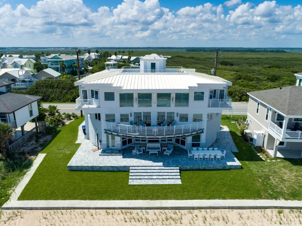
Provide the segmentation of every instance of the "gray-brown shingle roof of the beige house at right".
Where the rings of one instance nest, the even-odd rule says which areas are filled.
[[[287,86],[275,89],[253,91],[248,92],[247,94],[286,116],[302,115],[301,86]]]

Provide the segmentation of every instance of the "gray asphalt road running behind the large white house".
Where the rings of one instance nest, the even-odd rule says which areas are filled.
[[[43,104],[43,107],[47,108],[47,106],[50,104]],[[75,103],[54,103],[54,105],[57,105],[60,112],[66,112],[66,113],[77,113],[80,114],[80,111],[76,111],[76,104]],[[233,102],[233,115],[246,115],[247,114],[247,106],[248,103],[241,103],[241,102]],[[223,110],[223,114],[227,114],[227,110]],[[230,111],[231,114],[231,111]]]

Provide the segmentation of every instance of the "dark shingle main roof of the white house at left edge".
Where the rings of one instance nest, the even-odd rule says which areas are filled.
[[[41,99],[39,96],[27,94],[5,93],[0,95],[0,113],[12,113],[36,100]]]

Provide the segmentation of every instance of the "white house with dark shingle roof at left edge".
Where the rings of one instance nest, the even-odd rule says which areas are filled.
[[[11,93],[12,84],[12,81],[0,80],[0,119],[12,128],[21,127],[24,133],[25,123],[39,115],[37,100],[42,97]]]

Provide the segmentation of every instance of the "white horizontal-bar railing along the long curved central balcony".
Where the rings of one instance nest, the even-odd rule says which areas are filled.
[[[123,135],[132,134],[140,137],[174,136],[190,134],[204,129],[203,122],[191,123],[179,126],[128,126],[118,123],[105,122],[105,130]]]

